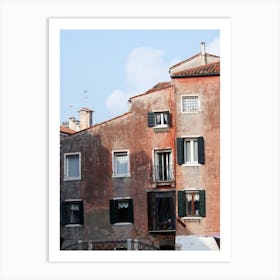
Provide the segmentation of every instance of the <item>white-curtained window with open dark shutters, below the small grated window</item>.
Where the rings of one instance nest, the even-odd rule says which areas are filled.
[[[177,138],[177,163],[179,165],[204,164],[204,138]]]

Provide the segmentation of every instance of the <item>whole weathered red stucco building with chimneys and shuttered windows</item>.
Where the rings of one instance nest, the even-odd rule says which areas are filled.
[[[219,233],[219,75],[202,44],[127,113],[92,126],[82,110],[61,139],[62,249],[175,250]]]

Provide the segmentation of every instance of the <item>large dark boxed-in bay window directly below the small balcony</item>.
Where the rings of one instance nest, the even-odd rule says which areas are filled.
[[[175,231],[175,191],[148,192],[149,231]]]

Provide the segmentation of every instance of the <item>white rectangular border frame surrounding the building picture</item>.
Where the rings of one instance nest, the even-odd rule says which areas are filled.
[[[126,251],[108,254],[106,251],[60,251],[59,250],[59,96],[60,96],[60,30],[90,29],[218,29],[221,46],[221,238],[220,251]],[[230,261],[231,259],[231,20],[186,18],[114,18],[112,19],[50,19],[49,20],[49,260],[50,261],[157,261],[157,262],[204,262]]]

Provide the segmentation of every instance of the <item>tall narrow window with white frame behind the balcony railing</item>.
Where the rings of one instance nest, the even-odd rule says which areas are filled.
[[[158,150],[154,154],[154,181],[166,182],[173,180],[170,150]]]

